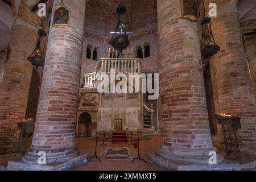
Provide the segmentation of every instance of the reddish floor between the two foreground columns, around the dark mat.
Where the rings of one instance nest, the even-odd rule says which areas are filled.
[[[156,166],[156,164],[148,160],[148,152],[154,151],[160,147],[163,138],[161,136],[152,136],[150,139],[141,141],[141,157],[146,159],[147,163],[135,160],[134,163],[130,159],[103,159],[106,147],[98,147],[98,156],[102,159],[99,162],[93,159],[91,162],[81,164],[75,167],[74,171],[160,171],[162,168]],[[100,145],[100,142],[98,145]],[[128,144],[112,144],[112,142],[106,142],[108,147],[127,147]],[[77,138],[77,146],[80,151],[85,151],[89,156],[94,155],[95,141],[88,138]],[[137,157],[137,149],[134,146],[129,146],[131,155]]]

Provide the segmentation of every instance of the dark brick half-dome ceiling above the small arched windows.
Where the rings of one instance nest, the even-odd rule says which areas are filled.
[[[127,31],[138,31],[152,23],[156,24],[156,0],[87,0],[85,30],[97,31],[106,36],[114,31],[118,20],[116,9],[121,3],[127,9],[122,16]]]

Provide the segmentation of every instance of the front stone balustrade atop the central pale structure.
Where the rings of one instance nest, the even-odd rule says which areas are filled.
[[[98,63],[96,70],[96,75],[100,73],[110,74],[110,70],[114,69],[115,73],[138,73],[142,72],[142,63],[141,59],[134,58],[123,58],[123,59],[101,59]]]

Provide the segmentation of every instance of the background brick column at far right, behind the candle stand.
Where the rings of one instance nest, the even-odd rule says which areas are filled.
[[[242,50],[240,22],[236,2],[222,5],[218,1],[218,14],[212,20],[214,39],[221,51],[212,57],[212,77],[216,114],[229,113],[241,117],[242,129],[237,131],[242,149],[256,147],[256,110],[254,90],[250,80],[245,51]],[[220,126],[219,126],[220,130]],[[221,130],[220,130],[220,133]]]

